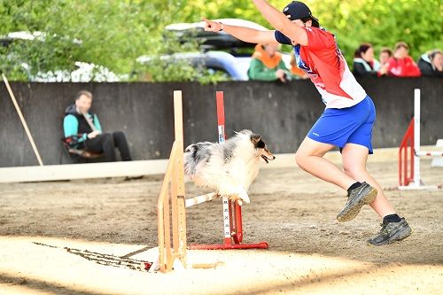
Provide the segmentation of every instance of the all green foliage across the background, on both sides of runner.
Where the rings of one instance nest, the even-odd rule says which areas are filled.
[[[269,1],[281,10],[289,0]],[[443,48],[443,4],[440,0],[307,0],[321,25],[337,35],[351,62],[355,48],[369,42],[376,50],[398,41],[408,43],[414,59]],[[42,40],[0,47],[0,71],[12,80],[58,69],[73,70],[75,61],[103,65],[118,74],[149,74],[152,81],[217,82],[185,62],[166,62],[163,55],[197,50],[164,35],[177,22],[249,19],[269,27],[250,0],[0,0],[0,35],[14,31],[44,32]],[[80,42],[79,42],[80,41]],[[285,48],[285,50],[289,50]],[[152,56],[151,65],[136,58]],[[22,66],[27,64],[28,68]],[[132,76],[137,79],[136,75]]]

